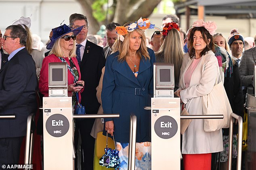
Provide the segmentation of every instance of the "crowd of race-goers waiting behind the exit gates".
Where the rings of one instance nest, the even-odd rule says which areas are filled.
[[[30,18],[21,17],[4,34],[0,31],[0,115],[16,115],[15,119],[0,120],[0,153],[4,153],[0,165],[19,163],[27,116],[39,113],[40,97],[48,94],[50,62],[67,63],[74,107],[80,102],[86,114],[120,114],[116,119],[75,122],[76,169],[102,169],[95,158],[99,132],[115,137],[120,170],[127,169],[130,113],[137,116],[136,169],[151,169],[151,116],[144,107],[153,94],[154,62],[174,64],[175,97],[180,97],[190,115],[203,115],[202,96],[210,93],[220,74],[233,113],[243,117],[245,94],[254,82],[256,36],[252,41],[233,29],[226,38],[216,33],[214,22],[203,20],[197,20],[185,33],[176,15],[167,15],[162,21],[162,29],[146,18],[123,26],[109,23],[103,41],[88,35],[86,16],[71,14],[68,25],[50,32],[46,46],[50,51],[46,53],[33,41],[38,37],[29,30]],[[150,42],[146,29],[157,29]],[[206,132],[203,119],[192,120],[182,136],[182,169],[210,170],[212,153],[220,152],[220,169],[227,170],[228,138],[228,129]],[[236,158],[236,135],[233,148]]]

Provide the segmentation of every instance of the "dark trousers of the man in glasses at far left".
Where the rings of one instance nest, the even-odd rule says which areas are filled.
[[[23,137],[0,138],[0,167],[2,164],[18,164]]]

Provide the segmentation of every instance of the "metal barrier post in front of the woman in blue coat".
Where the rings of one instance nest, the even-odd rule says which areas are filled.
[[[128,170],[135,169],[136,127],[137,127],[137,117],[135,115],[130,115],[130,140],[129,140],[129,153],[128,153]]]

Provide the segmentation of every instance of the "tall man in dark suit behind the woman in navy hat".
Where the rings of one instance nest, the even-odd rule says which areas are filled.
[[[88,20],[82,14],[71,14],[69,24],[73,28],[84,26],[76,36],[77,59],[80,65],[81,80],[84,80],[84,92],[81,93],[81,104],[85,106],[86,114],[97,114],[99,102],[96,97],[96,87],[99,85],[101,70],[105,66],[103,48],[86,39],[88,33]],[[90,135],[95,119],[76,121],[76,134],[81,134],[81,150],[84,156],[84,170],[93,170],[94,138]],[[75,137],[77,149],[78,135]],[[82,161],[81,161],[82,162]]]

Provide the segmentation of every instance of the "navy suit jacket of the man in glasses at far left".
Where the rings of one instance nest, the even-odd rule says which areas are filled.
[[[21,49],[0,70],[0,115],[16,116],[0,119],[0,138],[25,136],[27,116],[37,109],[37,86],[35,62]]]

